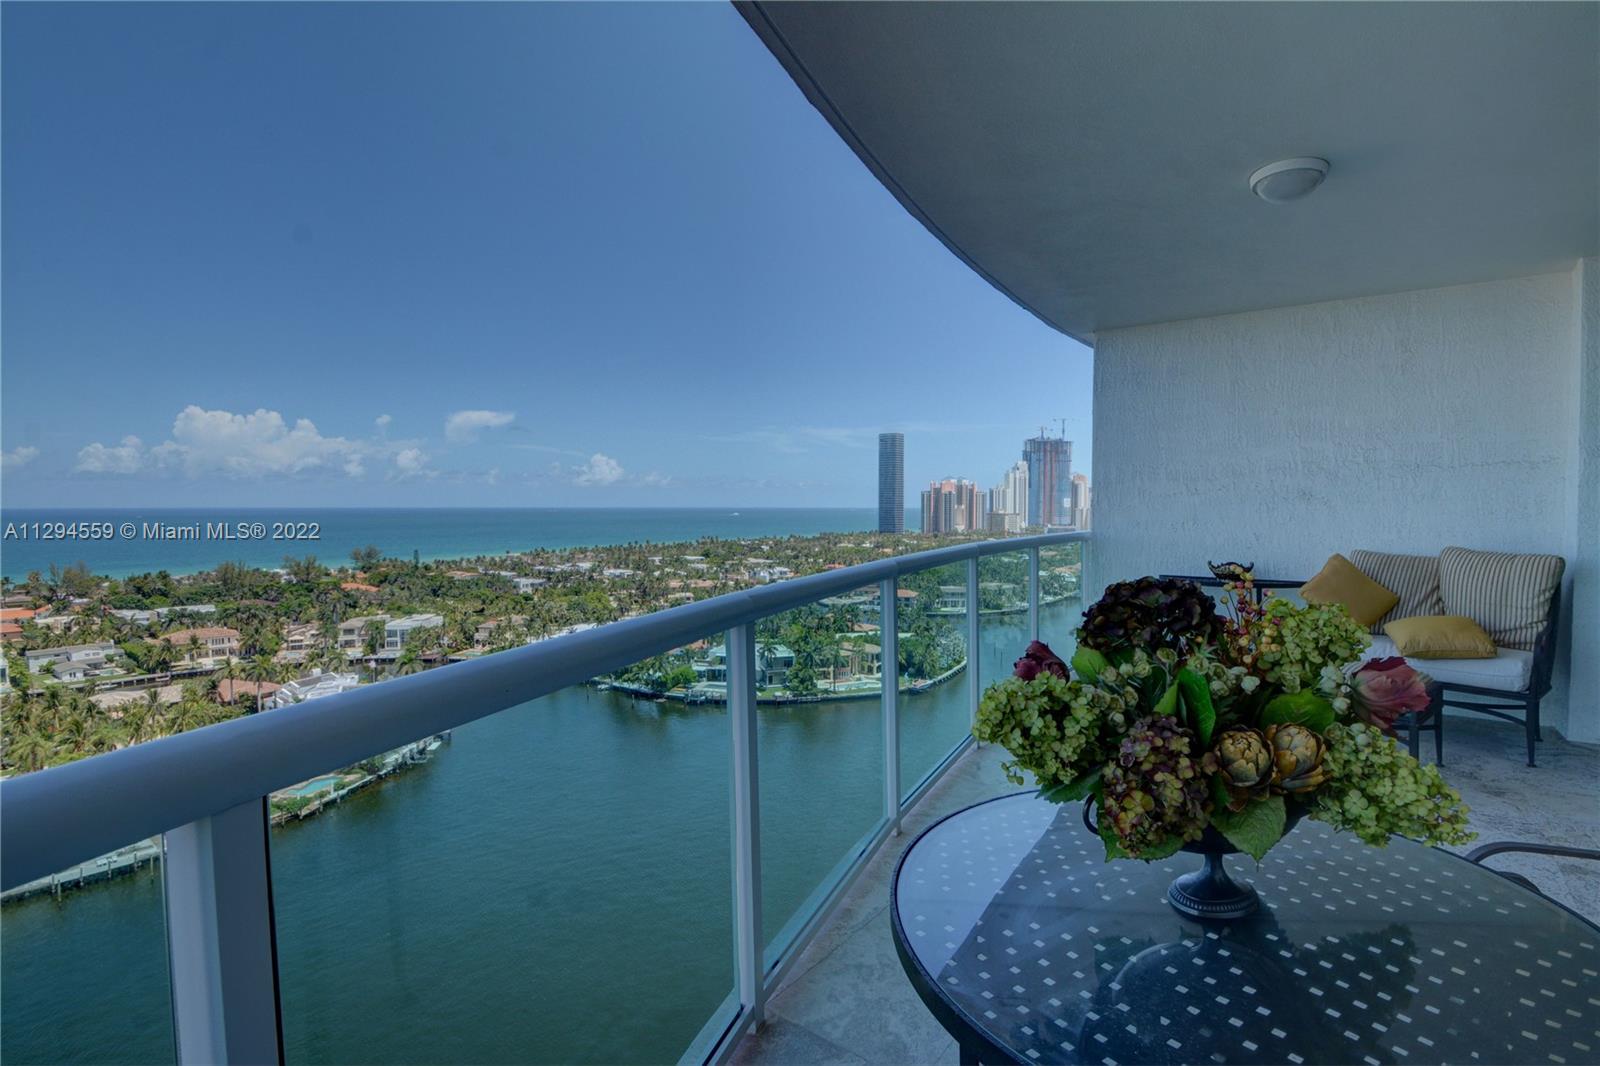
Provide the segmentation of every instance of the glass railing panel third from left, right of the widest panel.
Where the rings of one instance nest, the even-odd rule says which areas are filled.
[[[771,964],[883,824],[878,586],[765,618],[755,640]]]

